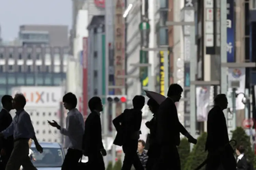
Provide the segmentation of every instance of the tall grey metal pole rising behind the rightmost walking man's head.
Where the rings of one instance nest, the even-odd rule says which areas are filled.
[[[221,63],[227,63],[227,0],[221,0]],[[227,72],[227,67],[221,67],[222,94],[227,94],[228,91]],[[227,109],[223,112],[227,121]]]

